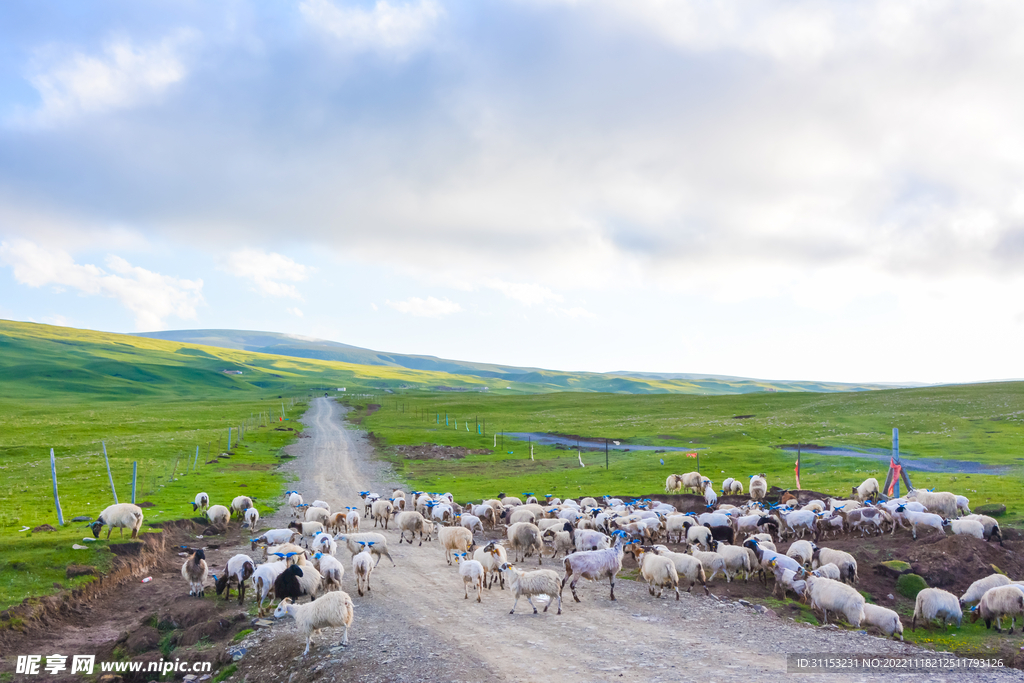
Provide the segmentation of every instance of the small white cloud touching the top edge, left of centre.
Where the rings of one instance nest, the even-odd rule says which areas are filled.
[[[331,35],[344,49],[399,53],[422,44],[442,11],[432,0],[396,5],[378,0],[373,9],[305,0],[300,10],[311,26]]]

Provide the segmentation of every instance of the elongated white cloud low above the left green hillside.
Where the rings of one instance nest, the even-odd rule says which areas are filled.
[[[16,240],[0,243],[0,262],[11,266],[14,280],[29,287],[52,285],[117,299],[135,315],[137,330],[159,330],[171,315],[195,319],[196,306],[203,302],[202,280],[162,275],[120,256],[108,256],[109,270],[104,270],[78,264],[67,252]]]

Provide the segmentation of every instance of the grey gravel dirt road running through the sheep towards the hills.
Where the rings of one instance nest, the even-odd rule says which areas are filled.
[[[344,428],[343,410],[333,400],[314,400],[303,419],[309,438],[290,446],[297,457],[286,466],[298,478],[293,487],[305,500],[324,499],[335,509],[358,504],[359,490],[384,494],[394,483],[374,461],[365,436]],[[268,521],[284,525],[286,515]],[[366,526],[364,520],[364,530]],[[385,535],[397,566],[381,562],[373,574],[372,595],[358,597],[351,571],[345,575],[344,588],[356,606],[351,644],[330,647],[341,634],[327,631],[300,665],[292,658],[302,650],[295,627],[290,621],[281,623],[251,637],[250,652],[240,663],[246,680],[292,680],[308,667],[314,677],[343,681],[540,681],[554,675],[568,681],[749,683],[784,675],[787,652],[928,653],[873,636],[797,624],[732,601],[686,594],[679,602],[654,599],[646,586],[631,581],[618,583],[616,602],[608,599],[606,584],[581,582],[583,602],[573,603],[566,590],[561,615],[553,610],[535,615],[525,601],[511,615],[508,591],[484,591],[481,604],[464,600],[457,569],[445,564],[436,541],[422,548],[399,546],[397,532]],[[339,555],[348,565],[348,553],[339,550]],[[527,568],[532,564],[526,563]],[[561,568],[550,560],[545,566]],[[1022,677],[1008,672],[910,678],[975,682]],[[800,680],[883,677],[804,674]]]

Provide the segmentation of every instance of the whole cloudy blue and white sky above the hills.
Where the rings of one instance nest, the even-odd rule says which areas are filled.
[[[0,4],[0,318],[1024,377],[1024,4]]]

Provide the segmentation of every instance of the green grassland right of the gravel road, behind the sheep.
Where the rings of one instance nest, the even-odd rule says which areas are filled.
[[[680,452],[577,453],[529,447],[499,431],[549,432],[610,438],[624,443],[683,446],[700,455],[700,469],[716,483],[743,481],[766,472],[769,483],[795,487],[795,456],[780,444],[887,449],[893,427],[915,486],[954,490],[972,504],[996,501],[1021,521],[1024,481],[1024,385],[1016,382],[864,393],[761,393],[723,396],[559,393],[532,396],[403,395],[387,397],[367,415],[367,399],[350,399],[361,427],[386,446],[440,443],[485,449],[459,460],[403,460],[384,449],[410,485],[451,490],[460,499],[493,497],[498,490],[565,496],[640,496],[664,490],[673,472],[695,469]],[[437,424],[437,416],[440,423]],[[459,428],[444,427],[459,421]],[[470,430],[466,431],[466,420]],[[476,434],[486,421],[487,433]],[[510,453],[511,452],[511,453]],[[912,454],[912,455],[911,455]],[[1000,475],[915,472],[913,457],[945,458],[1007,468]],[[660,464],[664,460],[665,464]],[[804,488],[849,495],[867,476],[885,477],[887,464],[860,458],[805,454]]]

